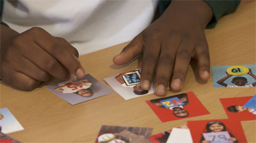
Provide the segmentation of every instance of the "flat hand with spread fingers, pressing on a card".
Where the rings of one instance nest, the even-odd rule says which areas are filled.
[[[199,75],[207,80],[210,58],[204,28],[211,18],[212,9],[204,1],[173,1],[113,62],[124,65],[143,54],[141,87],[149,90],[156,70],[154,88],[159,96],[166,95],[169,80],[173,90],[181,90],[191,58],[197,58]]]

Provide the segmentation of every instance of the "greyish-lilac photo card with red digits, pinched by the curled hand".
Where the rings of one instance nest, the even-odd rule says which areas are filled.
[[[89,74],[74,82],[62,82],[48,88],[72,105],[113,93]]]

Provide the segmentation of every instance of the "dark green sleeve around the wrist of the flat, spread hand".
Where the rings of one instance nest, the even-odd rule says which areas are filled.
[[[214,28],[218,23],[221,16],[230,14],[236,10],[241,0],[204,0],[209,6],[211,6],[213,12],[213,18],[207,24],[206,28]],[[170,5],[172,0],[160,0],[159,1],[159,10],[160,14],[163,14],[166,8]]]

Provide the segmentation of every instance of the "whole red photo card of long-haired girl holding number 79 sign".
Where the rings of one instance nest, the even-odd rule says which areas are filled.
[[[187,126],[194,142],[247,142],[238,120],[193,120]]]

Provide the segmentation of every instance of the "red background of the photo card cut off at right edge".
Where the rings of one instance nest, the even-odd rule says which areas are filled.
[[[228,107],[233,105],[243,106],[248,102],[252,97],[234,97],[234,98],[220,98],[223,108],[228,115],[229,119],[234,120],[256,120],[256,115],[245,110],[244,112],[230,112]]]

